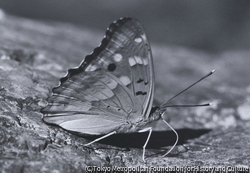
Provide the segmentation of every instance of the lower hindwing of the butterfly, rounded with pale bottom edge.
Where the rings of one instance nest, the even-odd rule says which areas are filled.
[[[106,134],[126,124],[128,113],[138,105],[132,98],[105,70],[83,71],[53,89],[48,106],[42,109],[43,120],[70,131]]]

